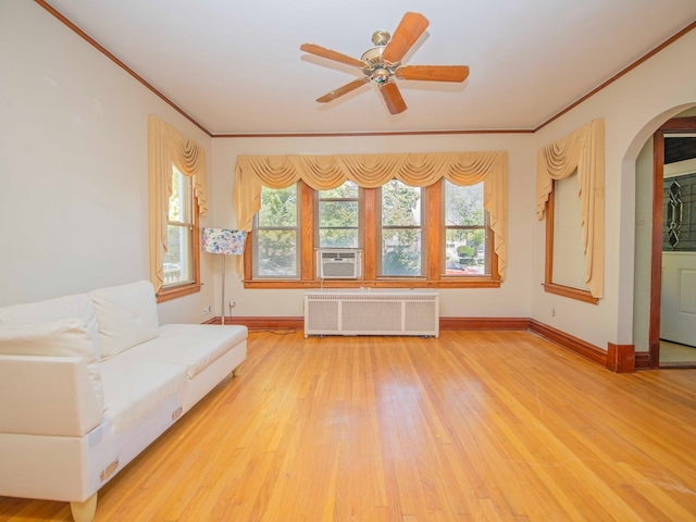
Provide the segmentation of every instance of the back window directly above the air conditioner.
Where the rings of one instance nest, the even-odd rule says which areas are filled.
[[[359,187],[346,182],[331,190],[318,190],[319,248],[360,248]]]

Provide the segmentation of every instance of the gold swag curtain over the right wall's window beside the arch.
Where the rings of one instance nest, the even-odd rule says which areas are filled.
[[[536,216],[544,219],[554,179],[577,170],[585,252],[585,283],[593,297],[604,297],[605,122],[594,120],[539,149],[536,165]]]

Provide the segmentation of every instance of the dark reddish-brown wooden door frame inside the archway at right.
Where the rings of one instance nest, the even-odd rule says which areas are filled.
[[[662,212],[664,192],[664,135],[696,132],[696,116],[668,120],[652,135],[652,237],[650,252],[649,368],[660,368],[660,313],[662,304]]]

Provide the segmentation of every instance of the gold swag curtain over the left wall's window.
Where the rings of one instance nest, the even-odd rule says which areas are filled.
[[[172,195],[172,163],[192,176],[198,213],[206,215],[206,149],[157,116],[148,116],[148,189],[150,209],[150,281],[158,293],[164,284],[164,254]]]

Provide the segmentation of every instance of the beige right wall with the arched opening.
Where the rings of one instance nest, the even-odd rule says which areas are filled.
[[[636,159],[659,125],[696,103],[696,70],[683,66],[695,51],[696,32],[691,32],[535,134],[539,148],[591,120],[606,121],[605,298],[593,306],[533,285],[534,319],[602,348],[633,343]],[[543,222],[535,223],[533,235],[532,277],[543,281]]]

